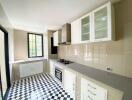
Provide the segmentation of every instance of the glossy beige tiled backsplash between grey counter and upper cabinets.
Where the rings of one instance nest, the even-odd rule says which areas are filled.
[[[132,77],[132,53],[126,53],[122,41],[60,46],[59,57]]]

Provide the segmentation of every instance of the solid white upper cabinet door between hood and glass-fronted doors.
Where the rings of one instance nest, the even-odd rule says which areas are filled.
[[[80,19],[75,20],[71,23],[71,43],[72,44],[78,44],[80,43],[80,34],[81,34],[81,28],[80,28]]]

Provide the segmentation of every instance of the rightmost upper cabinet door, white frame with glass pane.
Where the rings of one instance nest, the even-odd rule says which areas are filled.
[[[94,21],[94,40],[103,41],[111,40],[112,27],[111,27],[111,4],[108,3],[93,11]]]

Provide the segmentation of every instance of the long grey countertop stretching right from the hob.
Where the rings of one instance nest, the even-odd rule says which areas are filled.
[[[78,63],[69,64],[67,67],[85,76],[123,91],[123,100],[132,100],[132,78],[127,78]]]

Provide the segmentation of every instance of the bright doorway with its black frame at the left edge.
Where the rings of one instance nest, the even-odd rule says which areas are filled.
[[[5,98],[10,87],[8,32],[0,26],[0,100]]]

